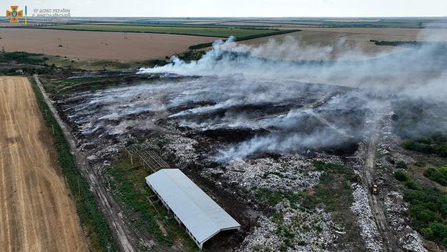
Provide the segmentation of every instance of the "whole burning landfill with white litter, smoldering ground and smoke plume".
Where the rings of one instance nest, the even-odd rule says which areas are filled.
[[[439,48],[426,45],[377,59],[357,55],[362,60],[352,61],[352,52],[332,59],[331,48],[315,55],[301,45],[294,54],[318,59],[281,61],[269,52],[292,42],[272,43],[248,48],[231,38],[218,41],[199,61],[174,56],[168,65],[139,70],[142,76],[160,76],[155,81],[65,96],[58,109],[95,169],[104,169],[130,140],[162,140],[162,156],[170,165],[248,204],[256,214],[239,213],[249,216],[251,224],[237,251],[276,251],[284,244],[287,251],[382,251],[384,238],[369,205],[363,157],[371,134],[382,139],[380,151],[397,145],[391,126],[375,132],[378,120],[391,122],[391,101],[446,98],[445,57],[438,56]],[[416,68],[440,73],[420,78],[405,74]],[[402,88],[422,79],[427,85]],[[321,204],[308,209],[288,197],[265,207],[260,192],[314,190],[325,174],[316,164],[323,163],[352,173],[347,187],[352,203],[346,206],[355,219],[351,224],[340,221],[335,210]],[[393,223],[389,228],[402,234],[397,247],[424,251],[421,238],[402,217],[402,196],[395,188],[384,191],[386,202],[399,202],[386,216]]]

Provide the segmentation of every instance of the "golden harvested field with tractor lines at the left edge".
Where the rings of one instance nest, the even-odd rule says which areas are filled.
[[[0,76],[0,251],[87,251],[27,78]]]

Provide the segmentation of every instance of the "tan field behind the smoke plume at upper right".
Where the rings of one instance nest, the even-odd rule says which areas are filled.
[[[447,32],[445,30],[424,30],[424,29],[393,29],[393,28],[300,28],[301,32],[281,34],[267,38],[252,39],[242,41],[246,45],[261,45],[267,43],[269,39],[275,39],[279,43],[283,42],[285,37],[292,37],[297,41],[300,47],[314,47],[319,51],[325,49],[331,50],[331,56],[355,55],[358,59],[359,54],[365,57],[374,57],[388,54],[391,52],[400,52],[405,48],[396,48],[392,46],[378,46],[370,40],[378,41],[447,41]],[[444,33],[443,33],[444,32]],[[296,50],[299,50],[297,47]],[[298,54],[299,52],[297,52]],[[279,58],[293,56],[287,50],[284,55],[279,54]],[[311,55],[312,56],[312,55]],[[312,57],[311,57],[312,59]]]

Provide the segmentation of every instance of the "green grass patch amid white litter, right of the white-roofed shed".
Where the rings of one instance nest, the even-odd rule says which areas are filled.
[[[358,243],[360,236],[358,236],[357,224],[351,217],[350,210],[353,202],[351,184],[358,181],[358,176],[353,174],[351,169],[342,165],[320,161],[314,161],[313,165],[319,171],[323,171],[323,174],[320,176],[320,183],[312,189],[301,193],[290,193],[259,188],[255,191],[257,201],[274,207],[279,202],[287,199],[294,209],[298,206],[303,211],[312,211],[317,207],[323,208],[331,213],[332,218],[337,223],[345,225],[347,235],[342,238],[343,240],[349,240],[350,244],[360,244]],[[306,245],[305,241],[292,244],[294,234],[290,232],[290,227],[283,224],[283,213],[281,211],[276,211],[272,215],[272,222],[278,224],[276,235],[281,238],[280,251],[287,251],[289,248],[297,249],[299,246]],[[318,225],[313,229],[318,232],[322,231],[322,228]]]

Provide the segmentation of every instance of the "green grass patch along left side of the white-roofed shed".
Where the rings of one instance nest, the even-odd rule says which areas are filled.
[[[136,160],[136,158],[134,158]],[[155,194],[146,185],[144,178],[149,175],[142,167],[133,167],[127,156],[121,156],[113,162],[109,169],[112,177],[111,189],[113,197],[122,206],[126,216],[131,218],[133,226],[148,235],[153,235],[162,246],[172,246],[174,241],[180,241],[184,251],[198,251],[197,246],[186,234],[184,229],[162,206],[155,203],[155,208],[148,198],[156,200]],[[161,222],[167,235],[160,230],[157,221]]]

